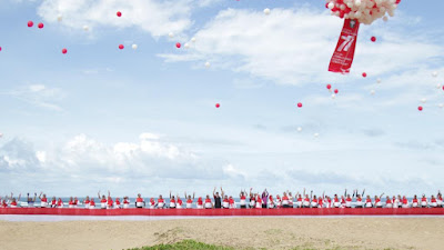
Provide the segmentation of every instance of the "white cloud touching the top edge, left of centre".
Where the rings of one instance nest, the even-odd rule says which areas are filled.
[[[85,24],[91,29],[134,27],[159,37],[181,33],[191,27],[191,3],[190,0],[43,0],[38,13],[47,22],[57,22],[58,14],[62,14],[61,24],[73,30]],[[117,11],[122,12],[121,18]]]

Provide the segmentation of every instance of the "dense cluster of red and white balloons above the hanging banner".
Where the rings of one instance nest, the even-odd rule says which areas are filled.
[[[325,7],[333,16],[371,24],[380,18],[386,21],[386,13],[393,17],[400,2],[401,0],[326,0]]]

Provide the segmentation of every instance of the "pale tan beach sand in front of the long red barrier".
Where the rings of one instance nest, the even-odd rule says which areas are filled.
[[[0,221],[0,249],[121,250],[183,239],[242,248],[444,249],[444,218]]]

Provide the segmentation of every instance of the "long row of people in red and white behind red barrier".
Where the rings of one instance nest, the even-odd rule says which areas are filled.
[[[226,196],[223,189],[221,192],[216,191],[214,188],[212,198],[206,194],[204,198],[184,193],[183,199],[176,194],[172,196],[170,191],[170,197],[165,200],[162,196],[158,199],[150,198],[144,200],[139,193],[133,200],[129,197],[112,198],[110,191],[108,191],[108,197],[105,194],[100,194],[98,192],[98,203],[95,203],[94,198],[85,197],[84,200],[79,201],[77,197],[70,198],[68,203],[63,202],[61,198],[53,197],[51,200],[47,198],[43,192],[37,197],[30,196],[28,193],[27,207],[39,207],[39,208],[85,208],[85,209],[128,209],[131,202],[134,203],[135,208],[149,208],[149,209],[280,209],[280,208],[443,208],[443,196],[441,191],[437,192],[436,197],[431,196],[427,198],[422,194],[421,198],[414,196],[413,199],[408,200],[405,196],[371,196],[365,194],[365,190],[359,193],[357,190],[353,190],[353,193],[345,193],[343,196],[334,194],[333,197],[313,194],[313,191],[309,193],[305,189],[302,193],[296,192],[293,197],[291,191],[283,192],[282,196],[276,194],[275,197],[270,194],[266,189],[262,192],[250,192],[246,190],[241,190],[239,193],[239,201],[236,202],[232,196]],[[19,208],[21,207],[21,194],[18,198],[11,193],[11,196],[0,197],[1,208]],[[37,206],[37,199],[39,199],[40,204]]]

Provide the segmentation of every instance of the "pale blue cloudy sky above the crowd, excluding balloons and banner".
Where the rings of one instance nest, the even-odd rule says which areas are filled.
[[[0,196],[436,193],[444,17],[428,2],[362,26],[343,76],[324,1],[1,0]]]

